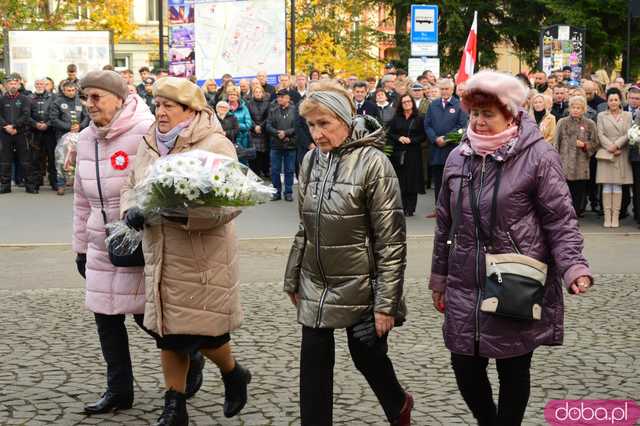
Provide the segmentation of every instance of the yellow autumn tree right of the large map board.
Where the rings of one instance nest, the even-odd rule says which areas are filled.
[[[372,53],[377,32],[360,25],[365,11],[362,0],[297,1],[296,69],[318,69],[339,77],[376,75],[381,66]]]

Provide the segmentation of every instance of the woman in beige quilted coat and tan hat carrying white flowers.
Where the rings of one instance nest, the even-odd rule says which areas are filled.
[[[185,79],[165,77],[154,84],[156,124],[138,148],[136,164],[121,196],[127,225],[144,227],[146,303],[144,324],[156,334],[167,392],[157,425],[187,425],[185,380],[188,354],[199,350],[222,373],[224,414],[236,415],[247,401],[249,370],[231,355],[229,333],[240,327],[238,244],[233,219],[165,217],[144,224],[136,207],[136,183],[168,154],[205,150],[236,158],[202,91]],[[187,211],[187,214],[190,212]]]

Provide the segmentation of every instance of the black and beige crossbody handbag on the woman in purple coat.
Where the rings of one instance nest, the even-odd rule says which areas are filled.
[[[537,259],[520,253],[515,246],[514,249],[516,252],[491,253],[491,251],[493,251],[493,236],[496,228],[498,191],[500,189],[501,175],[502,163],[498,162],[496,183],[491,201],[488,235],[482,228],[480,221],[480,209],[472,185],[473,175],[472,173],[467,175],[473,220],[478,238],[485,251],[486,273],[480,294],[480,310],[500,317],[518,320],[539,320],[542,316],[547,265]],[[462,179],[465,177],[463,173]],[[461,182],[449,242],[455,239],[454,227],[457,227],[460,223],[463,187],[464,185]],[[487,247],[489,250],[487,250]]]

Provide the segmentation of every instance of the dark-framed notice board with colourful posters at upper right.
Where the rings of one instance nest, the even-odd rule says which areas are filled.
[[[585,30],[552,25],[540,31],[540,68],[547,74],[571,67],[571,81],[579,84],[585,61]]]

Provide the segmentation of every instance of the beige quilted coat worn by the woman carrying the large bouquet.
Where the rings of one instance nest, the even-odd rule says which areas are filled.
[[[195,149],[236,158],[233,145],[211,122],[208,110],[197,113],[182,131],[171,154]],[[135,206],[133,187],[160,158],[154,124],[138,148],[136,164],[121,196],[121,214]],[[144,325],[160,334],[220,336],[240,327],[242,308],[238,242],[234,216],[221,220],[190,217],[186,225],[163,221],[146,225]]]

